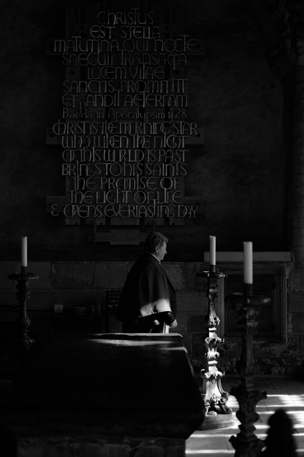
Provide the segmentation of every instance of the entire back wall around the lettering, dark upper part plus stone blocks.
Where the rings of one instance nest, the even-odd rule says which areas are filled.
[[[125,3],[113,0],[109,6],[120,11]],[[282,8],[273,14],[269,2],[265,9],[255,1],[173,3],[176,11],[183,10],[185,33],[204,42],[204,53],[189,58],[185,78],[189,80],[188,120],[204,129],[205,141],[192,145],[187,153],[185,196],[198,197],[201,206],[196,218],[187,218],[182,226],[166,220],[164,227],[156,227],[164,228],[170,239],[166,257],[170,263],[165,266],[177,290],[176,331],[184,336],[193,366],[199,370],[207,301],[203,285],[194,277],[207,268],[200,261],[206,260],[203,251],[208,249],[209,234],[216,235],[217,249],[226,251],[242,249],[243,239],[252,240],[255,251],[291,249],[294,265],[284,311],[287,334],[283,342],[256,340],[254,347],[261,372],[300,371],[304,354],[303,37],[296,43],[299,65],[282,85],[277,75],[285,71],[278,71],[284,53],[282,37],[276,35],[282,31]],[[153,2],[154,11],[165,8],[167,16],[169,6],[162,0]],[[0,90],[5,94],[0,108],[5,132],[0,146],[0,253],[5,260],[0,264],[0,304],[15,303],[15,285],[7,276],[20,271],[16,262],[20,238],[27,234],[29,259],[35,260],[28,270],[40,276],[30,285],[31,328],[45,331],[53,329],[49,316],[55,305],[92,308],[101,302],[104,316],[106,290],[123,286],[142,249],[92,243],[92,225],[66,225],[62,214],[46,213],[46,196],[65,193],[62,151],[46,144],[45,135],[61,116],[65,79],[62,61],[47,54],[46,43],[65,36],[66,7],[67,2],[56,0],[10,1],[0,16]],[[275,25],[273,21],[278,28],[265,28],[265,24]],[[98,226],[98,232],[117,227],[122,226],[108,221]],[[152,231],[144,221],[135,228]],[[34,317],[34,310],[45,310],[45,319],[42,312]],[[116,331],[116,325],[111,320],[110,330]],[[220,352],[219,366],[234,372],[240,339],[227,338]]]

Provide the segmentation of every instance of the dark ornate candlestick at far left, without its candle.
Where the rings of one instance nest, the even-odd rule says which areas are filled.
[[[39,277],[33,273],[27,273],[26,266],[21,266],[21,273],[9,275],[8,278],[17,281],[16,289],[18,292],[16,292],[16,297],[20,303],[17,325],[20,332],[21,351],[27,352],[30,349],[31,344],[35,343],[35,340],[28,335],[28,328],[31,325],[31,319],[29,319],[27,315],[26,308],[26,302],[30,298],[28,282],[30,279],[39,279]]]

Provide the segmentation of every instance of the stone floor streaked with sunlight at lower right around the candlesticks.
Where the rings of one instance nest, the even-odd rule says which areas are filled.
[[[304,380],[288,376],[259,375],[255,377],[255,381],[256,388],[267,392],[267,399],[261,400],[256,407],[260,416],[254,424],[256,435],[264,440],[267,436],[270,415],[277,409],[283,408],[293,421],[297,455],[304,457]],[[227,392],[230,392],[232,386],[237,385],[237,376],[227,376],[222,380],[222,387]],[[229,439],[239,432],[240,422],[236,418],[238,403],[236,398],[231,396],[227,404],[232,408],[234,425],[227,428],[195,431],[186,441],[186,457],[234,455],[235,450]]]

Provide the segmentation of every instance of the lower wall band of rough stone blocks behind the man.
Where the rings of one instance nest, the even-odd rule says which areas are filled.
[[[104,309],[106,290],[122,288],[133,262],[30,262],[28,271],[39,276],[30,282],[31,296],[28,310],[32,319],[32,331],[52,332],[55,305],[87,306],[88,313],[93,305],[101,304],[101,331],[104,332]],[[178,326],[196,372],[203,367],[206,337],[205,316],[208,302],[206,280],[197,278],[199,271],[206,271],[203,262],[163,262],[176,290]],[[15,304],[15,285],[7,279],[11,273],[20,271],[18,262],[0,263],[0,305]],[[224,271],[224,268],[222,268]],[[263,374],[294,374],[304,371],[302,292],[288,292],[287,335],[282,340],[254,340],[254,356]],[[34,310],[40,310],[39,319]],[[44,312],[42,312],[44,311]],[[31,315],[32,313],[32,315]],[[16,315],[16,311],[15,311]],[[41,317],[42,315],[42,317]],[[121,331],[113,316],[109,319],[109,332]],[[241,337],[225,338],[219,348],[218,367],[227,374],[235,374],[235,363],[241,353]],[[39,343],[39,342],[38,342]]]

